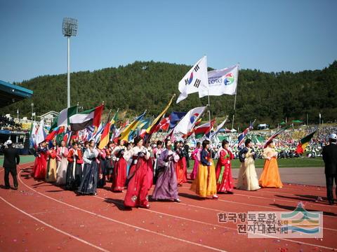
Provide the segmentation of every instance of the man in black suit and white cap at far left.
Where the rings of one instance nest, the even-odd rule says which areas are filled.
[[[18,150],[13,148],[12,141],[8,140],[4,144],[4,146],[8,146],[8,148],[4,148],[4,165],[5,168],[5,188],[9,189],[9,174],[11,173],[13,176],[14,190],[18,190],[18,179],[16,178],[16,165],[19,165],[20,156],[18,154]],[[4,147],[3,146],[3,147]]]

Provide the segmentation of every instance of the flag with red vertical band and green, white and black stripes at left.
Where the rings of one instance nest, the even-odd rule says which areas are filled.
[[[81,113],[77,113],[70,117],[70,129],[73,131],[84,130],[86,127],[93,125],[98,127],[100,125],[100,118],[102,116],[104,105],[89,109]]]

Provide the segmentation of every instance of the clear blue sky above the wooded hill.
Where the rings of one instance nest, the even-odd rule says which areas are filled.
[[[0,10],[0,80],[10,83],[67,72],[65,17],[79,22],[71,71],[204,55],[214,69],[267,72],[337,60],[335,0],[0,0]]]

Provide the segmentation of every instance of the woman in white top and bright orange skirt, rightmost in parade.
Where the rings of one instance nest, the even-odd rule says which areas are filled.
[[[282,188],[283,184],[277,165],[277,151],[275,151],[275,144],[272,141],[264,149],[263,158],[265,165],[258,183],[263,188]]]

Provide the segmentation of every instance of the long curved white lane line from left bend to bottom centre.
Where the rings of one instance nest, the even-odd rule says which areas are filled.
[[[21,171],[19,172],[19,174],[20,174],[20,173],[21,173]],[[97,216],[97,217],[100,217],[100,218],[104,218],[104,219],[106,219],[106,220],[108,220],[108,221],[112,221],[112,222],[114,222],[114,223],[119,223],[119,224],[121,224],[121,225],[126,225],[126,226],[128,226],[129,228],[136,228],[136,229],[138,229],[138,230],[143,230],[143,231],[145,231],[145,232],[150,232],[150,233],[152,233],[152,234],[154,234],[154,235],[159,235],[159,236],[161,236],[161,237],[166,237],[166,238],[169,238],[169,239],[174,239],[174,240],[176,240],[176,241],[183,241],[183,242],[185,242],[185,243],[187,243],[187,244],[192,244],[192,245],[199,246],[199,247],[202,247],[202,248],[208,248],[208,249],[211,249],[211,250],[213,250],[213,251],[223,251],[223,252],[225,252],[224,250],[222,250],[222,249],[220,249],[220,248],[214,248],[214,247],[206,246],[206,245],[203,245],[203,244],[197,244],[197,243],[195,243],[195,242],[193,242],[193,241],[187,241],[187,240],[185,240],[185,239],[180,239],[180,238],[177,238],[177,237],[172,237],[172,236],[170,236],[170,235],[164,235],[164,234],[161,234],[161,233],[158,233],[158,232],[154,232],[154,231],[152,231],[152,230],[147,230],[147,229],[145,229],[145,228],[138,227],[138,226],[136,226],[136,225],[131,225],[131,224],[128,224],[128,223],[124,223],[124,222],[122,222],[122,221],[117,221],[117,220],[115,220],[115,219],[113,219],[113,218],[109,218],[109,217],[107,217],[107,216],[102,216],[102,215],[100,215],[100,214],[95,214],[95,213],[93,213],[93,212],[91,212],[91,211],[87,211],[87,210],[85,210],[85,209],[81,209],[81,208],[79,208],[79,207],[75,207],[75,206],[73,206],[73,205],[71,205],[71,204],[67,204],[67,203],[65,203],[65,202],[61,202],[60,200],[56,200],[56,199],[54,199],[53,197],[49,197],[49,196],[47,196],[47,195],[44,195],[43,193],[40,193],[40,192],[37,191],[37,190],[34,190],[34,189],[31,188],[30,186],[27,186],[27,184],[24,183],[24,182],[20,179],[20,176],[19,176],[19,180],[20,180],[20,182],[21,182],[23,185],[25,185],[25,186],[26,186],[27,188],[29,188],[30,190],[33,190],[35,193],[39,193],[39,195],[42,195],[42,196],[44,196],[44,197],[46,197],[46,198],[48,198],[48,199],[50,199],[50,200],[54,200],[55,202],[58,202],[58,203],[60,203],[60,204],[65,204],[65,205],[68,206],[68,207],[72,207],[72,208],[77,209],[77,210],[79,210],[79,211],[84,211],[84,212],[87,213],[87,214],[91,214],[91,215],[93,215],[93,216]],[[34,216],[32,216],[32,217],[34,218]]]

